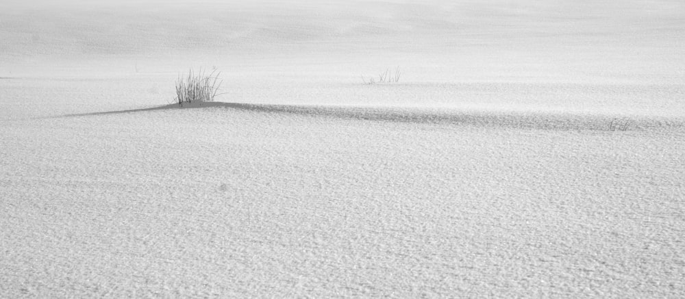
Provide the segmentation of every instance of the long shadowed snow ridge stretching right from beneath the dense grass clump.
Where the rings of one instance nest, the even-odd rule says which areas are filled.
[[[84,117],[179,108],[230,108],[275,115],[304,115],[309,117],[336,117],[339,119],[360,121],[474,125],[535,130],[630,131],[685,128],[685,121],[675,117],[590,115],[571,112],[460,110],[392,106],[247,104],[220,101],[192,103],[186,104],[183,107],[177,104],[169,104],[152,108],[79,113],[64,115],[62,117]]]

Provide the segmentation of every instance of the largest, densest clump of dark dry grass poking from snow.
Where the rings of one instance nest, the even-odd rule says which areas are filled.
[[[209,73],[203,69],[199,69],[197,73],[189,69],[187,75],[179,74],[176,80],[175,101],[178,102],[179,106],[194,101],[214,101],[216,95],[221,95],[217,93],[223,82],[223,80],[219,80],[219,75],[221,72],[217,71],[216,68],[212,68]]]

